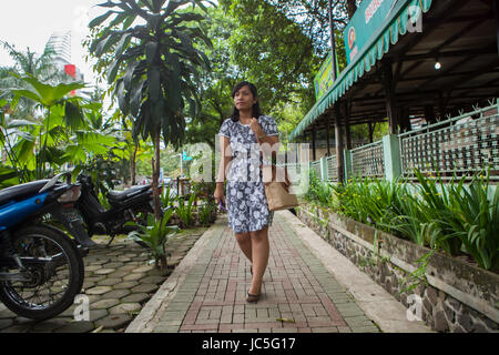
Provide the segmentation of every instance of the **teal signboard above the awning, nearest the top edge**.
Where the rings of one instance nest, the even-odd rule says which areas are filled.
[[[363,50],[376,29],[386,20],[398,0],[364,0],[343,31],[347,62]]]

